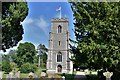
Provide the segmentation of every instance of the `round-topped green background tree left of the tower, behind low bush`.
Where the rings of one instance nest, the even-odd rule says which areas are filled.
[[[20,67],[24,63],[34,63],[34,57],[36,55],[35,46],[32,43],[20,43],[17,50],[17,59],[15,60]]]

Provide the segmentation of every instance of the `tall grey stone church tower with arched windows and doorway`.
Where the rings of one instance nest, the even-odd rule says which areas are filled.
[[[69,73],[73,71],[70,61],[68,18],[53,18],[51,25],[47,73]]]

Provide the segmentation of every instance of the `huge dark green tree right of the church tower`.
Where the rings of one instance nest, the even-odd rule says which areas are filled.
[[[78,66],[120,71],[120,2],[72,3]]]

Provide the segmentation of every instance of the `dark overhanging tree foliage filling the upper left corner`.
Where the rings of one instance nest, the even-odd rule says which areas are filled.
[[[2,2],[2,50],[6,51],[22,40],[21,22],[28,15],[26,2]]]

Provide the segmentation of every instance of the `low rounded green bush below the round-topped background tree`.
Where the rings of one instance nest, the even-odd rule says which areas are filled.
[[[35,72],[36,70],[37,70],[37,66],[30,63],[25,63],[20,67],[20,71],[22,73]]]

